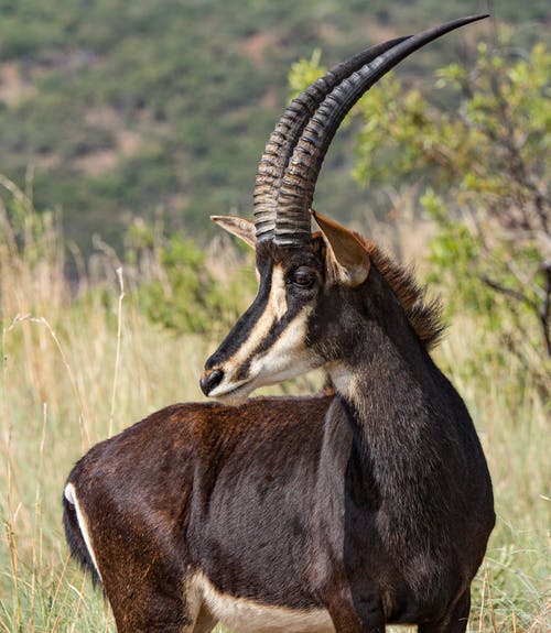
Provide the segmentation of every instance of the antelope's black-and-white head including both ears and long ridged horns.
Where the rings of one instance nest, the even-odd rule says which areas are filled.
[[[256,249],[259,288],[205,364],[206,395],[238,403],[259,386],[337,363],[354,351],[361,297],[377,274],[370,274],[371,255],[360,238],[311,209],[324,156],[346,113],[378,79],[424,44],[484,17],[370,47],[287,108],[259,163],[255,221],[213,218]]]

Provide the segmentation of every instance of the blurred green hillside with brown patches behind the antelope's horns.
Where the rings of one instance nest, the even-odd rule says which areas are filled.
[[[163,210],[202,236],[210,214],[250,214],[256,163],[287,99],[290,65],[331,65],[366,45],[488,9],[515,43],[542,39],[547,0],[20,0],[0,7],[0,174],[61,205],[66,234],[120,243],[132,216]],[[468,58],[493,25],[467,29],[409,59],[401,77]],[[354,134],[332,148],[317,199],[353,217]],[[345,212],[346,209],[346,212]]]

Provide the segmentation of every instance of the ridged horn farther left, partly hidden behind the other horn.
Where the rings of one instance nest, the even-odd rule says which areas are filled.
[[[346,62],[342,62],[303,90],[287,107],[270,134],[258,165],[253,194],[257,240],[270,239],[273,236],[278,194],[283,174],[304,127],[320,103],[343,79],[407,39],[397,37],[383,44],[370,46]]]

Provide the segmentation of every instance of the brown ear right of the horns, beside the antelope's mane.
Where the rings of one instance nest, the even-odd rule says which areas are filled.
[[[327,255],[331,258],[341,282],[347,286],[358,286],[364,283],[369,274],[371,262],[358,238],[329,218],[325,218],[314,210],[312,215],[322,229],[322,234],[328,247]]]

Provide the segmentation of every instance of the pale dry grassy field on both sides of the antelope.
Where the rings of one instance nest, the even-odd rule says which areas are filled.
[[[122,293],[108,254],[90,266],[94,285],[83,277],[69,288],[55,221],[40,234],[32,219],[23,226],[15,236],[0,208],[0,630],[115,631],[100,593],[68,560],[64,480],[95,441],[170,403],[202,400],[197,378],[222,332],[152,325],[132,275],[122,271]],[[541,385],[514,358],[500,360],[494,336],[455,315],[436,351],[476,422],[496,494],[469,630],[539,633],[551,626],[549,410]]]

